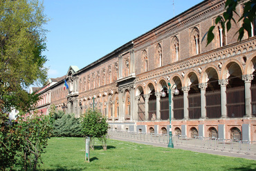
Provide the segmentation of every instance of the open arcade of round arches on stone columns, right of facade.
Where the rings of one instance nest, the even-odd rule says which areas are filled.
[[[243,60],[246,63],[246,58]],[[147,85],[138,84],[138,120],[169,119],[168,96],[161,97],[161,92],[168,93],[169,81],[173,89],[179,90],[179,95],[173,96],[172,89],[173,119],[256,116],[255,61],[256,57],[246,63],[247,70],[233,60],[226,65],[219,63],[193,69],[188,74],[174,74],[172,79],[161,77],[158,81],[148,81]]]

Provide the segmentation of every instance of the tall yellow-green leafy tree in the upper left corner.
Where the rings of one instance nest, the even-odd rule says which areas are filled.
[[[39,0],[0,0],[0,108],[28,111],[38,100],[26,89],[44,83],[48,19]]]

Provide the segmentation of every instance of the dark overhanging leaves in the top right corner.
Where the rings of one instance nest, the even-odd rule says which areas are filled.
[[[215,28],[215,26],[217,26],[217,24],[219,23],[221,25],[221,27],[223,28],[223,30],[227,29],[227,32],[230,30],[232,24],[231,22],[233,21],[235,24],[237,24],[237,22],[242,21],[242,26],[241,28],[239,28],[239,30],[237,31],[237,33],[239,34],[238,36],[238,41],[241,41],[241,39],[244,37],[244,33],[245,31],[248,33],[248,37],[252,36],[252,24],[255,21],[255,12],[256,12],[256,0],[250,0],[250,1],[246,1],[244,3],[244,12],[243,14],[241,14],[241,17],[239,18],[238,21],[235,21],[234,19],[234,14],[237,14],[236,12],[236,8],[237,8],[237,4],[240,1],[244,1],[244,0],[227,0],[226,1],[226,11],[223,12],[222,15],[218,16],[215,19],[215,25],[211,26],[208,30],[207,34],[207,45],[212,42],[212,40],[214,39],[214,34],[213,34],[213,30]],[[237,14],[239,16],[239,14]],[[226,28],[226,29],[224,29]],[[236,33],[236,34],[237,34]]]

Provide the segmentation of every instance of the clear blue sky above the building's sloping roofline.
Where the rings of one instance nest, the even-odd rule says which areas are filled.
[[[203,0],[44,0],[49,78],[84,68]]]

